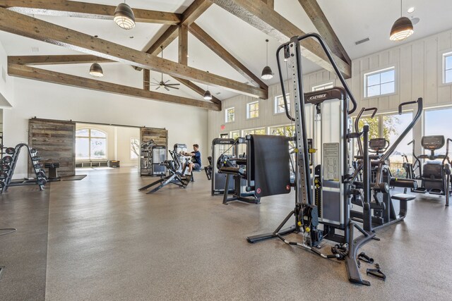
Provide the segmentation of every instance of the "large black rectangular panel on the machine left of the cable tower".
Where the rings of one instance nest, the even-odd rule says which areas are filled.
[[[248,142],[248,180],[256,197],[290,192],[289,140],[285,136],[251,135]]]

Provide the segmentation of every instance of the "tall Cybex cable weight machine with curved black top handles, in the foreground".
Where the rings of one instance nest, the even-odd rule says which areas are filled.
[[[335,87],[330,90],[304,94],[300,42],[311,37],[319,41],[344,88]],[[280,66],[281,51],[289,64],[291,76],[288,82],[292,84],[290,97],[293,99],[292,104],[294,105],[291,107],[295,109],[294,117],[287,107]],[[356,110],[357,102],[333,61],[328,47],[319,35],[311,33],[301,37],[292,37],[290,42],[278,47],[276,58],[285,112],[287,118],[295,121],[297,154],[295,209],[290,211],[273,233],[249,236],[246,239],[249,242],[258,242],[269,238],[280,238],[288,245],[303,247],[325,259],[345,259],[349,281],[370,285],[369,281],[363,280],[359,273],[357,252],[362,245],[375,238],[376,234],[371,231],[369,226],[371,214],[367,211],[366,215],[362,216],[363,227],[350,218],[350,190],[358,190],[362,195],[364,207],[370,206],[369,126],[364,126],[362,132],[352,133],[350,114]],[[348,107],[349,101],[352,103],[351,109]],[[328,124],[321,121],[328,121]],[[352,177],[350,142],[352,139],[360,139],[360,137],[364,138],[362,187],[356,188]],[[312,139],[313,148],[309,147],[308,138]],[[310,166],[312,167],[310,168]],[[314,169],[314,174],[311,174],[312,169]],[[292,216],[295,217],[295,225],[283,229]],[[323,229],[319,225],[323,226]],[[356,230],[361,234],[357,238],[354,237]],[[302,242],[286,240],[283,235],[289,233],[299,233],[302,236]],[[335,247],[332,247],[332,254],[323,254],[316,247],[323,238],[338,242]],[[369,271],[369,274],[371,273],[374,271]]]

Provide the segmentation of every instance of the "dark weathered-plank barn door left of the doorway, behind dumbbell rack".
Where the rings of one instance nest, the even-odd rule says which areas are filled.
[[[76,174],[76,123],[32,118],[28,122],[28,145],[45,161],[59,161],[59,176]],[[31,171],[31,164],[30,164]]]

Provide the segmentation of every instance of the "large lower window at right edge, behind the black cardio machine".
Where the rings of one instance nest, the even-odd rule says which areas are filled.
[[[446,141],[447,138],[452,139],[450,127],[451,118],[452,108],[425,111],[424,135],[444,135]],[[419,145],[420,141],[416,141],[416,143]],[[452,149],[449,151],[452,151]],[[429,154],[429,152],[426,153]],[[435,154],[446,154],[446,145],[444,145],[444,147],[441,147],[441,149],[436,150]]]

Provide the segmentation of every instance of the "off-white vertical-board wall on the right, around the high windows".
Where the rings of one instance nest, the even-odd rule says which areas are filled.
[[[392,113],[397,111],[400,103],[418,97],[424,98],[424,109],[452,105],[452,85],[442,83],[442,55],[449,51],[452,51],[452,30],[353,60],[352,78],[347,80],[347,85],[357,99],[357,111],[363,106],[376,106],[379,113]],[[391,66],[396,67],[396,92],[389,96],[364,99],[364,74]],[[311,91],[312,87],[326,82],[340,86],[340,80],[326,70],[304,75],[303,80],[304,90],[307,92]],[[220,133],[230,133],[232,130],[289,124],[285,113],[273,113],[274,99],[279,95],[281,95],[280,84],[268,87],[268,99],[259,100],[259,117],[248,120],[246,103],[255,102],[256,99],[242,95],[225,99],[222,111],[209,112],[209,141],[219,137]],[[235,121],[225,123],[225,109],[232,106],[235,108]],[[224,130],[221,130],[222,125],[225,125]],[[414,135],[422,135],[420,123],[417,124]]]

